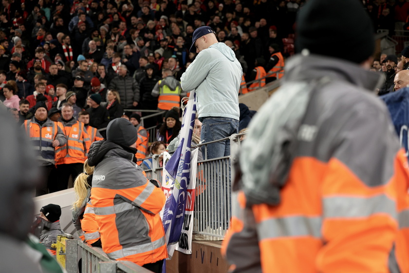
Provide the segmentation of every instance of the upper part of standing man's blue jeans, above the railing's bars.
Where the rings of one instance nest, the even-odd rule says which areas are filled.
[[[202,143],[230,137],[239,132],[239,120],[229,117],[207,117],[202,122]],[[207,146],[207,157],[205,157],[205,146]],[[230,139],[222,142],[211,143],[202,146],[204,159],[230,156]]]

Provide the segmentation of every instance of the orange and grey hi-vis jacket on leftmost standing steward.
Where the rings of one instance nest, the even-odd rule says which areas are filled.
[[[33,148],[38,150],[39,155],[37,155],[37,158],[50,163],[50,165],[54,165],[57,154],[56,148],[53,147],[53,141],[56,139],[58,132],[57,126],[59,126],[61,130],[63,126],[60,122],[51,122],[53,122],[53,126],[41,127],[39,124],[27,119],[24,121],[24,128],[28,137],[30,137],[30,140],[33,142]]]

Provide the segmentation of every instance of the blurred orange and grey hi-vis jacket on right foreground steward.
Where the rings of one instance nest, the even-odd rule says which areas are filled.
[[[396,262],[409,272],[408,159],[386,106],[368,91],[378,77],[322,56],[291,62],[288,82],[259,117],[282,117],[288,109],[273,109],[269,102],[326,74],[329,81],[309,100],[279,203],[246,209],[243,194],[232,199],[223,251],[234,272],[387,273]],[[259,140],[264,147],[257,126],[265,123],[252,124],[247,144]]]

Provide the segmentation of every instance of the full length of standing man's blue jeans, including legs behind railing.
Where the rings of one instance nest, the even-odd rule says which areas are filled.
[[[207,117],[202,123],[201,138],[204,143],[230,137],[239,131],[239,120],[228,117]],[[205,146],[207,151],[205,152]],[[230,139],[202,146],[204,159],[230,156]],[[207,155],[205,155],[207,154]],[[207,156],[207,157],[205,157]],[[228,166],[227,166],[228,165]],[[207,200],[206,223],[212,229],[227,229],[227,215],[231,211],[230,160],[220,159],[207,163],[209,177],[206,178]],[[230,214],[229,214],[230,215]]]

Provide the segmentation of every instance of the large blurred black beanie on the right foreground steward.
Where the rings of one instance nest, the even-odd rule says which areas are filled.
[[[361,63],[374,51],[372,21],[358,0],[309,0],[297,16],[295,47]]]

